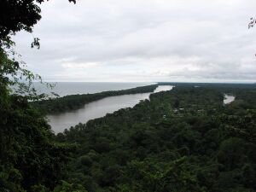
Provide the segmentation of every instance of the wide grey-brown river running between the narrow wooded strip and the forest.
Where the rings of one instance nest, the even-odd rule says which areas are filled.
[[[172,87],[171,85],[160,85],[154,90],[154,93],[172,90]],[[113,113],[120,108],[132,108],[141,100],[148,99],[150,94],[108,96],[96,102],[85,104],[84,108],[66,113],[48,115],[47,118],[49,119],[49,125],[51,125],[52,130],[58,133],[79,123],[86,123],[90,119],[100,118],[107,113]]]

